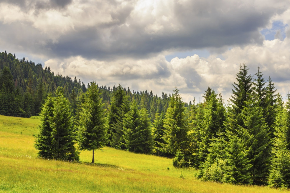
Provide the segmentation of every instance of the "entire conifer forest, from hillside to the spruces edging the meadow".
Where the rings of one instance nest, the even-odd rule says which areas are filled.
[[[0,114],[41,115],[36,148],[49,159],[78,160],[79,149],[103,146],[173,158],[202,180],[290,188],[290,95],[284,103],[271,77],[240,65],[225,105],[210,87],[186,104],[121,85],[87,86],[25,58],[0,54]]]

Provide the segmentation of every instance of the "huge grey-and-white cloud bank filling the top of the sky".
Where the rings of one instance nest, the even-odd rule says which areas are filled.
[[[164,51],[261,45],[259,30],[277,13],[286,11],[289,1],[2,1],[0,23],[22,25],[35,32],[34,53],[47,58],[82,56],[114,60],[146,58]],[[9,14],[8,14],[9,12]],[[3,45],[13,39],[0,38]],[[24,42],[12,42],[24,51]]]

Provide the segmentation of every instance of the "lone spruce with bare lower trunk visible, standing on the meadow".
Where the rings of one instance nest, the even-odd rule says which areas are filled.
[[[95,163],[95,150],[107,142],[107,124],[100,95],[98,86],[91,82],[85,102],[81,104],[79,120],[79,148],[93,150],[92,163]]]

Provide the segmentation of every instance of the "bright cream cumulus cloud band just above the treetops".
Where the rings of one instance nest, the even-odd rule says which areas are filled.
[[[108,62],[75,56],[65,60],[50,59],[45,66],[50,66],[62,75],[77,76],[86,83],[97,81],[107,86],[120,83],[132,90],[147,89],[158,95],[162,91],[172,93],[176,86],[186,102],[194,97],[201,98],[207,86],[210,86],[227,100],[243,62],[252,76],[259,66],[265,80],[271,76],[278,91],[285,94],[288,89],[285,85],[290,85],[289,49],[290,40],[285,38],[283,41],[264,40],[262,45],[233,47],[222,54],[224,59],[216,54],[207,58],[195,54],[186,58],[176,57],[168,62],[160,54],[147,59],[116,59]]]

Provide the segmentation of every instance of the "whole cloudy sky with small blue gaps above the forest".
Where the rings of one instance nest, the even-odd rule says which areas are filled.
[[[230,97],[239,66],[290,89],[289,0],[0,0],[0,51],[184,102]]]

